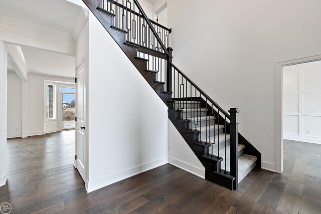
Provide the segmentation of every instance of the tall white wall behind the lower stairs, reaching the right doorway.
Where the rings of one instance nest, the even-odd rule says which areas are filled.
[[[275,170],[275,63],[320,52],[320,7],[317,0],[169,1],[174,64],[225,110],[240,109],[240,133],[262,153],[263,168]]]

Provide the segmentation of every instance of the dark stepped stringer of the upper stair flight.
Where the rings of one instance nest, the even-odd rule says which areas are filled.
[[[156,74],[146,72],[147,62],[137,59],[137,48],[133,46],[125,45],[125,33],[117,31],[114,28],[111,28],[113,25],[113,17],[104,13],[102,10],[97,10],[97,1],[96,0],[83,0],[89,10],[94,14],[98,19],[101,25],[106,29],[110,36],[115,40],[120,49],[125,53],[128,59],[136,67],[139,73],[144,77],[148,84],[154,89],[157,95],[168,105],[168,100],[170,100],[171,94],[162,93],[164,91],[164,85],[157,84],[154,81],[156,80]]]

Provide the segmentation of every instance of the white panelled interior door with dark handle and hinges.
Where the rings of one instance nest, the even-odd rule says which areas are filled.
[[[76,168],[86,180],[87,136],[86,136],[86,60],[76,68]]]

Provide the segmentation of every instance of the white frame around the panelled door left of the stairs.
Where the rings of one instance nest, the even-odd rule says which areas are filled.
[[[86,114],[85,114],[85,117],[86,117],[86,146],[85,146],[85,148],[86,148],[86,152],[85,152],[85,154],[86,154],[86,166],[85,166],[86,173],[85,173],[85,187],[86,187],[86,190],[88,192],[88,177],[89,177],[89,174],[88,174],[88,172],[89,172],[89,170],[88,170],[88,163],[89,163],[89,161],[88,161],[88,157],[89,157],[89,155],[88,155],[89,154],[89,148],[88,148],[88,133],[89,132],[88,132],[88,129],[89,129],[89,127],[88,127],[88,122],[87,122],[87,120],[88,120],[88,108],[87,108],[87,96],[88,96],[88,87],[87,87],[87,85],[88,85],[88,82],[87,82],[87,80],[88,80],[88,64],[87,63],[88,62],[87,62],[87,52],[75,64],[75,77],[77,77],[77,73],[76,73],[77,68],[84,61],[85,61],[85,69],[86,69],[86,92],[85,92],[85,94],[86,94],[86,96],[85,96],[86,105],[84,105],[85,112],[86,112]],[[76,81],[77,81],[77,79],[75,79],[75,82]],[[77,105],[78,105],[78,103],[77,103],[77,89],[78,89],[77,88],[77,83],[75,83],[75,115],[77,115]],[[77,121],[75,121],[75,157],[76,157],[76,154],[77,154]],[[77,168],[77,159],[76,158],[74,158],[74,167]]]

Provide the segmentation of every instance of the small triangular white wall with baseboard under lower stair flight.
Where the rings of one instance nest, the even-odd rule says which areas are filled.
[[[205,178],[205,167],[169,120],[169,163]]]

